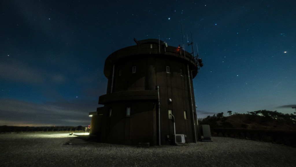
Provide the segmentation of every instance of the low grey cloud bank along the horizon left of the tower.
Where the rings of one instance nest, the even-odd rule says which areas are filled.
[[[37,104],[15,99],[0,99],[0,125],[78,126],[90,123],[89,112],[96,111],[95,101],[58,101]]]

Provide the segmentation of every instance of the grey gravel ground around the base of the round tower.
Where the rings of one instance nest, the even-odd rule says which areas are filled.
[[[296,148],[246,139],[150,148],[88,143],[69,133],[0,134],[0,166],[295,166]],[[81,142],[83,143],[83,141]]]

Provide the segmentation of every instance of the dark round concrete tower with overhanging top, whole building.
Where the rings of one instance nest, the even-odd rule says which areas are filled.
[[[159,39],[137,41],[109,55],[107,93],[89,113],[91,136],[119,144],[196,142],[198,125],[192,79],[201,59]]]

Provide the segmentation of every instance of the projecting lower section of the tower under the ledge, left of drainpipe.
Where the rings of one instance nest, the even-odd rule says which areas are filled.
[[[112,107],[111,107],[112,106]],[[138,144],[149,142],[156,144],[156,108],[155,102],[137,101],[131,103],[112,102],[98,108],[103,115],[93,116],[91,134],[98,135],[100,141]]]

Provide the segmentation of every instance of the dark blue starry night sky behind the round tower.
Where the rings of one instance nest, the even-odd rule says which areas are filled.
[[[295,0],[9,0],[0,1],[0,125],[89,125],[107,56],[133,38],[178,47],[181,23],[185,50],[188,36],[204,63],[197,117],[295,112]]]

